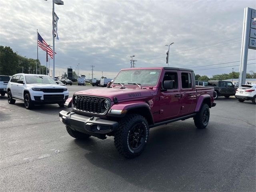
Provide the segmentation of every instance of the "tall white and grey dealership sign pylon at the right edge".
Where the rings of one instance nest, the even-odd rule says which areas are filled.
[[[240,58],[239,86],[245,84],[248,49],[256,49],[256,10],[244,8],[244,24]]]

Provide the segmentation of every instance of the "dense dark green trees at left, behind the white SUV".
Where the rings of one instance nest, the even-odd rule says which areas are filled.
[[[16,73],[36,74],[37,59],[26,58],[13,52],[12,48],[0,46],[0,75],[12,76]],[[41,73],[40,71],[41,70]],[[38,60],[37,74],[46,74],[46,66]]]

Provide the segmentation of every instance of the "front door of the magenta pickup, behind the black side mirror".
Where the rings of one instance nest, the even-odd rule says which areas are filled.
[[[180,113],[180,85],[178,84],[178,72],[166,71],[162,80],[162,91],[159,98],[159,117],[168,120],[178,116]],[[172,80],[173,89],[163,90],[164,81]]]

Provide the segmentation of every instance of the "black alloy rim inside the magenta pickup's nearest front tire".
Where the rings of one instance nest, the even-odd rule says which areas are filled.
[[[132,127],[128,135],[130,148],[133,150],[139,149],[145,142],[146,128],[142,124],[136,124]]]

